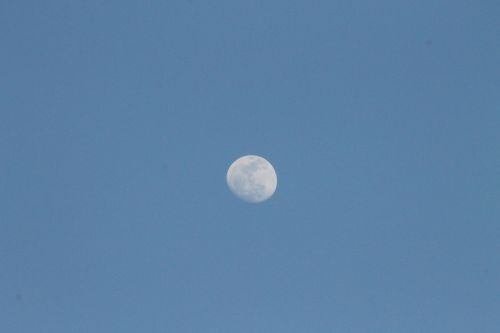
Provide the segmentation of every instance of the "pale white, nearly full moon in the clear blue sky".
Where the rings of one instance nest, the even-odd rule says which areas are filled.
[[[256,155],[243,156],[234,161],[227,170],[226,181],[237,197],[251,203],[269,199],[278,185],[271,163]]]

